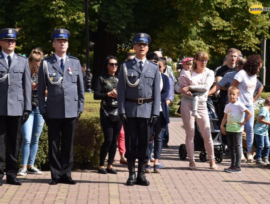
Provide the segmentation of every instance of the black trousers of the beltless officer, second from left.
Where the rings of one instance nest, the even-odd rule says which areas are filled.
[[[48,119],[48,158],[51,178],[71,176],[76,118]]]

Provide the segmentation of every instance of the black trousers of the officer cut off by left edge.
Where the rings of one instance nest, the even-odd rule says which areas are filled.
[[[5,159],[5,142],[5,173],[7,177],[16,177],[18,170],[21,118],[21,116],[0,116],[0,180],[4,175],[2,167]]]

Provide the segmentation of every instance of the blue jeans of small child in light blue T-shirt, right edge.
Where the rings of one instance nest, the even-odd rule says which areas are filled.
[[[261,159],[261,153],[263,150],[263,157],[269,156],[269,150],[270,150],[270,142],[269,142],[269,136],[263,136],[263,135],[257,135],[254,134],[257,142],[257,148],[256,148],[256,159]]]

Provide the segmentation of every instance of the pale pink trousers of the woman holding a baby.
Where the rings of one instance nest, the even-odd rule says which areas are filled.
[[[204,148],[209,160],[214,159],[213,141],[210,131],[210,121],[206,104],[198,104],[198,114],[201,119],[195,119],[204,141]],[[191,116],[192,103],[181,102],[181,118],[185,130],[185,146],[188,159],[194,159],[194,117]]]

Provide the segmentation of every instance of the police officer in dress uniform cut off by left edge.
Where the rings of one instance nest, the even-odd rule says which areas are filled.
[[[21,184],[16,178],[21,124],[31,112],[30,69],[27,58],[14,53],[17,35],[15,29],[0,30],[0,185],[4,175],[5,139],[6,183]]]

